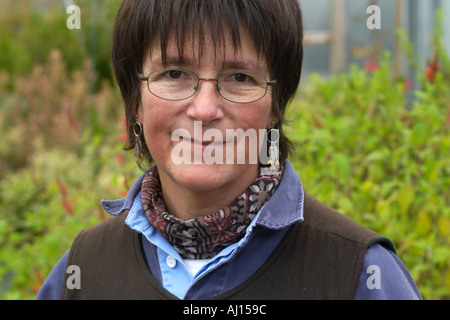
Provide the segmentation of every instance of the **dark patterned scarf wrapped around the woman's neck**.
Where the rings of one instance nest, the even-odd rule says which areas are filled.
[[[156,228],[183,259],[210,259],[245,235],[259,209],[269,201],[283,176],[260,175],[225,208],[196,219],[180,220],[167,212],[158,170],[152,167],[142,182],[142,206]]]

